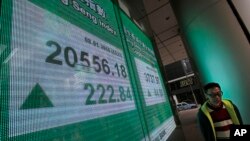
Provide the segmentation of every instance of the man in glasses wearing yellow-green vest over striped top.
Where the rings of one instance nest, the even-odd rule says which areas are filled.
[[[242,124],[238,108],[230,100],[222,100],[221,87],[218,83],[204,86],[208,100],[198,112],[198,122],[206,141],[229,139],[230,126]]]

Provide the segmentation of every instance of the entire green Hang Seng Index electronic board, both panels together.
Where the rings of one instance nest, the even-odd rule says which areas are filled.
[[[109,0],[2,0],[1,141],[167,138],[152,44],[129,19],[122,35],[117,15]],[[146,57],[126,51],[130,33]]]

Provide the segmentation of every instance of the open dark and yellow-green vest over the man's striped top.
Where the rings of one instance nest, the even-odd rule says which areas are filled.
[[[230,100],[222,100],[225,105],[233,124],[239,125],[242,123],[242,118],[238,108]],[[212,118],[207,110],[207,101],[201,106],[197,114],[198,124],[206,141],[216,141],[215,129]]]

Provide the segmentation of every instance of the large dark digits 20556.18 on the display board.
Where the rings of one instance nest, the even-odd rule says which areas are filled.
[[[49,47],[56,48],[54,52],[52,52],[49,56],[47,56],[45,60],[47,63],[63,65],[63,61],[57,58],[57,56],[61,55],[61,52],[64,53],[64,60],[69,67],[75,67],[75,65],[78,63],[78,56],[74,48],[65,47],[64,50],[62,51],[62,47],[57,42],[51,41],[51,40],[48,41],[46,45]],[[71,58],[69,57],[69,54],[72,55]],[[116,68],[116,70],[112,72],[110,70],[109,62],[107,59],[100,58],[99,56],[93,55],[92,64],[91,64],[91,61],[89,60],[89,58],[90,58],[89,53],[84,52],[84,51],[80,52],[81,64],[86,67],[93,67],[95,72],[100,73],[103,71],[107,75],[109,74],[114,75],[115,74],[114,72],[116,72],[118,77],[123,77],[123,78],[127,77],[127,73],[126,73],[126,69],[124,65],[115,63],[114,68]]]

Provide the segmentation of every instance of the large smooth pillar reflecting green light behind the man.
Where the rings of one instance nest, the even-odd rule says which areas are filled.
[[[226,0],[172,0],[186,49],[203,84],[218,82],[250,123],[250,46]]]

